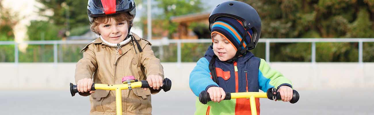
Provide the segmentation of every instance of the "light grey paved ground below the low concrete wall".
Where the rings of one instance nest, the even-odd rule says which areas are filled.
[[[373,89],[300,90],[298,103],[261,99],[262,115],[374,115]],[[0,115],[88,115],[88,97],[67,91],[0,91]],[[190,90],[152,96],[154,115],[192,115],[196,97]]]

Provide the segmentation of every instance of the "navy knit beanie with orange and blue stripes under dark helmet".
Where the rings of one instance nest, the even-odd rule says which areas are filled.
[[[240,45],[240,41],[243,39],[242,37],[244,32],[245,29],[241,21],[229,17],[220,17],[217,18],[213,23],[211,35],[214,33],[221,35],[222,37],[226,38],[226,40],[229,41],[237,50]],[[244,47],[250,43],[252,38],[252,29],[249,29],[247,32],[248,34],[244,39],[242,49],[244,49]]]

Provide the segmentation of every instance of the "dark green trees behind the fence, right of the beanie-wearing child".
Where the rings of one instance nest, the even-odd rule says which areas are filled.
[[[261,38],[374,38],[373,0],[239,1],[259,13]],[[357,43],[317,43],[316,53],[321,56],[317,61],[357,61],[357,47]],[[271,51],[270,60],[310,61],[310,45],[277,43],[272,44]],[[373,58],[364,57],[371,59],[366,61]]]

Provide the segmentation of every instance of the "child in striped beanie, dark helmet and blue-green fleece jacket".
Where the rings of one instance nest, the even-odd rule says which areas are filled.
[[[242,15],[240,10],[248,14]],[[266,92],[275,87],[284,102],[292,99],[291,81],[248,51],[255,48],[261,33],[261,20],[253,7],[240,1],[226,1],[212,11],[209,23],[213,43],[197,61],[189,83],[196,96],[206,90],[214,102],[203,105],[197,98],[195,115],[251,114],[249,99],[221,101],[225,92],[258,92],[259,89]],[[255,103],[260,114],[258,98]]]

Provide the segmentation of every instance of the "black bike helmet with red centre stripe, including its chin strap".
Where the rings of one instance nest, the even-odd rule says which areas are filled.
[[[87,14],[91,24],[96,17],[114,15],[123,12],[126,12],[135,18],[136,9],[134,0],[88,0]],[[131,24],[129,24],[128,33],[130,33],[131,27]],[[129,37],[131,37],[133,44],[135,41],[139,52],[142,52],[142,49],[138,41],[135,40],[135,37],[133,35],[127,35],[127,38]]]

